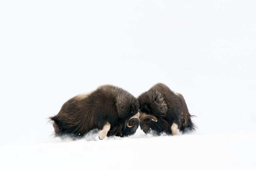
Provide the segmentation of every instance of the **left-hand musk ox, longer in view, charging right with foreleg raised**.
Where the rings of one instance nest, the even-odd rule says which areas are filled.
[[[83,137],[99,129],[99,138],[134,135],[140,120],[138,100],[122,88],[103,85],[69,99],[56,116],[49,117],[56,137]]]

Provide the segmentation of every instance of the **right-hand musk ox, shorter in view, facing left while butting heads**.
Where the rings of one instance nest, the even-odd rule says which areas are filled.
[[[140,102],[140,127],[145,133],[179,135],[195,131],[183,96],[157,83],[138,96]]]

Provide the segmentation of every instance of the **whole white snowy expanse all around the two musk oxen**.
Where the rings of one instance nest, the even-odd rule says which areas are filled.
[[[255,169],[255,1],[1,1],[1,169]],[[181,93],[196,133],[50,137],[69,98]]]

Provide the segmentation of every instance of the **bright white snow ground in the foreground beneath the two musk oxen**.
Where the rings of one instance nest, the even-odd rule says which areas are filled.
[[[141,130],[138,130],[141,131]],[[138,133],[140,135],[138,135]],[[52,140],[1,147],[4,167],[15,169],[253,169],[256,133],[152,137],[137,132],[104,141]],[[11,151],[11,152],[10,152]],[[14,152],[15,151],[15,152]],[[15,161],[14,161],[15,160]]]

